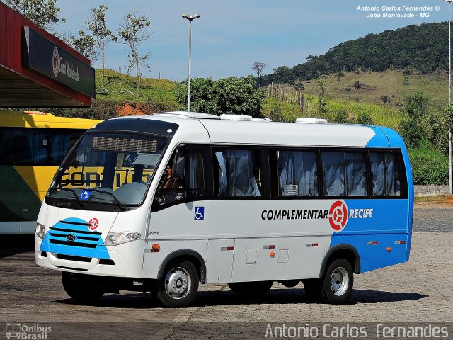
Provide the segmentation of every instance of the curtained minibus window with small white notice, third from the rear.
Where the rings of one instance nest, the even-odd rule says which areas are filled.
[[[278,186],[274,197],[319,195],[316,152],[279,150],[275,152],[275,161],[271,162],[276,162],[277,166]]]

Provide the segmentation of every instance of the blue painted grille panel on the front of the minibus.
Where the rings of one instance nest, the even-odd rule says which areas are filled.
[[[62,223],[81,223],[82,225]],[[55,230],[61,229],[61,230]],[[90,232],[89,234],[86,232]],[[67,242],[67,235],[74,234],[74,242]],[[58,242],[58,243],[55,243]],[[67,218],[55,223],[45,234],[40,251],[47,251],[53,254],[93,257],[96,259],[110,259],[107,247],[101,234],[93,233],[88,229],[88,222],[80,218]]]

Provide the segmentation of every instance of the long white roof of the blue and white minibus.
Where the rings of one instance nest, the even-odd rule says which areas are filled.
[[[372,128],[365,125],[261,123],[256,121],[189,118],[186,113],[162,113],[142,119],[163,120],[180,126],[175,138],[181,142],[206,142],[263,145],[320,145],[365,147],[374,137]],[[193,140],[192,140],[193,139]]]

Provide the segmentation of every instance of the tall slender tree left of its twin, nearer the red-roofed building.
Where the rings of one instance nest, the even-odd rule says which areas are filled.
[[[86,22],[86,28],[93,33],[93,40],[99,50],[101,50],[101,85],[104,86],[104,69],[105,69],[105,46],[110,41],[116,41],[117,38],[113,35],[112,31],[107,28],[105,23],[105,12],[107,6],[99,5],[91,7],[88,15],[88,21]],[[84,34],[85,35],[85,34]]]

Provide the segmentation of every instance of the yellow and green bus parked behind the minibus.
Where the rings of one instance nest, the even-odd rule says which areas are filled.
[[[47,188],[79,137],[101,120],[0,111],[0,234],[32,234]]]

